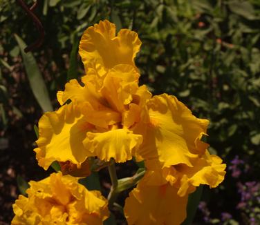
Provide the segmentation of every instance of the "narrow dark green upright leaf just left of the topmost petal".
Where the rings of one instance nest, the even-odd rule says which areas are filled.
[[[67,81],[70,79],[77,79],[77,50],[80,44],[80,39],[78,39],[77,35],[73,37],[73,46],[70,55],[70,63],[68,67]]]

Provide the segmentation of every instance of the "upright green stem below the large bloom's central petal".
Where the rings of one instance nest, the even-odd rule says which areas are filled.
[[[111,159],[111,164],[108,167],[109,167],[109,176],[111,179],[112,186],[109,192],[109,196],[107,198],[109,200],[109,208],[112,208],[113,203],[118,197],[118,176],[116,175],[114,159]]]

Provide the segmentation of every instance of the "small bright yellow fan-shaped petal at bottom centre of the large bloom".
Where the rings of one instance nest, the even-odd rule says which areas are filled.
[[[106,162],[126,162],[132,158],[132,152],[142,143],[142,136],[127,129],[109,130],[104,133],[87,133],[83,144],[93,155]]]

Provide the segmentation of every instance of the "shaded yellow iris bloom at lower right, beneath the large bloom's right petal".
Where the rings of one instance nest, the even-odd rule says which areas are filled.
[[[218,186],[224,179],[225,164],[208,151],[192,166],[178,164],[162,168],[158,159],[146,162],[147,171],[126,199],[124,215],[129,225],[178,225],[185,220],[187,197],[197,186]]]

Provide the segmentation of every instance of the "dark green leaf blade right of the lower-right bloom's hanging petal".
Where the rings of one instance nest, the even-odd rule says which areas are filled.
[[[203,193],[203,186],[196,188],[194,193],[189,195],[187,204],[187,218],[182,225],[190,225],[193,222],[194,216],[196,215],[196,210],[198,208],[198,203],[201,200],[201,195]]]

